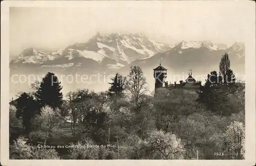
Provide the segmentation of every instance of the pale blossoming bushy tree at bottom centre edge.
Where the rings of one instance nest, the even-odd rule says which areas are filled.
[[[184,147],[175,134],[154,130],[147,139],[137,135],[127,138],[122,151],[130,159],[183,159]]]

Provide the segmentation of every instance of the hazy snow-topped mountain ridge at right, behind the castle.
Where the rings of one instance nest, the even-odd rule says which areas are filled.
[[[245,47],[243,43],[234,43],[225,49],[224,44],[215,44],[210,41],[182,41],[173,49],[159,52],[145,60],[134,61],[125,66],[124,70],[128,70],[129,66],[138,65],[143,70],[151,72],[153,67],[159,65],[160,60],[161,64],[173,73],[186,72],[188,69],[199,73],[205,72],[204,70],[218,70],[221,57],[225,52],[229,54],[232,69],[244,73]]]

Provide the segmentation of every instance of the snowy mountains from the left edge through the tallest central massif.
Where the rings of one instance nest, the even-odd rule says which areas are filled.
[[[18,57],[12,59],[10,64],[71,67],[90,65],[86,61],[93,61],[93,64],[98,63],[96,66],[103,63],[109,68],[118,68],[134,60],[150,58],[154,54],[168,50],[173,46],[148,39],[142,34],[115,33],[103,35],[97,33],[88,42],[75,43],[66,49],[52,52],[37,51],[34,48],[25,49]]]

